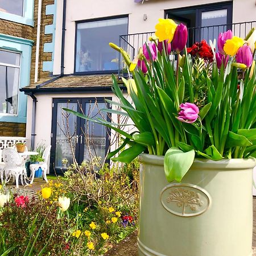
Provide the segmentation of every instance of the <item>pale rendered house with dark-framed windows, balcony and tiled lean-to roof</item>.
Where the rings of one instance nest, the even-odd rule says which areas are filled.
[[[22,89],[28,94],[26,137],[34,147],[42,141],[52,145],[51,171],[61,171],[63,159],[71,164],[72,154],[79,163],[89,160],[91,152],[104,158],[111,141],[108,131],[65,116],[61,108],[92,117],[106,108],[104,98],[113,98],[110,76],[122,75],[125,68],[109,42],[133,58],[158,19],[167,17],[187,24],[190,44],[213,40],[228,29],[244,37],[256,27],[255,14],[255,0],[35,0],[35,23],[40,19],[40,28],[36,26],[37,47],[32,49],[31,83]],[[90,133],[89,140],[84,130]]]

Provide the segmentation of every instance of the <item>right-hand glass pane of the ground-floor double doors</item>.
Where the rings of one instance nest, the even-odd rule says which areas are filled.
[[[99,109],[106,108],[105,103],[98,102],[97,105],[93,103],[86,103],[85,114],[89,117],[106,119],[106,112],[99,112]],[[103,116],[102,116],[103,115]],[[85,121],[85,145],[84,145],[84,160],[91,160],[97,156],[101,158],[101,163],[105,158],[106,151],[106,127],[99,123]]]

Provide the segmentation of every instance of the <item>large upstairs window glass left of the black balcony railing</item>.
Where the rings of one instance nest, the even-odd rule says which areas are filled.
[[[118,52],[109,43],[118,45],[119,35],[127,30],[127,17],[77,23],[75,72],[117,71]]]

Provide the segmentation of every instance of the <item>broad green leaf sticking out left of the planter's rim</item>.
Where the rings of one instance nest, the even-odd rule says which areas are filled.
[[[112,160],[119,161],[122,163],[130,163],[134,158],[136,158],[139,154],[146,150],[146,147],[141,144],[134,143],[133,146],[123,150],[119,156],[116,158],[112,158]]]

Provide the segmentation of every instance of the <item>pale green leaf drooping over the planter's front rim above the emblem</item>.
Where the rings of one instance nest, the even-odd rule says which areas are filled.
[[[180,182],[187,174],[195,159],[195,150],[183,152],[179,148],[171,147],[164,156],[164,172],[168,182]]]

